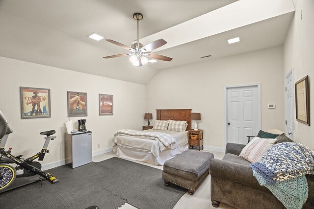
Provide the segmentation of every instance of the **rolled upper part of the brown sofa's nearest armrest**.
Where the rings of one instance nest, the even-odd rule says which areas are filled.
[[[209,163],[209,174],[212,177],[268,190],[266,187],[260,186],[259,182],[253,176],[252,168],[248,165],[212,159]]]

